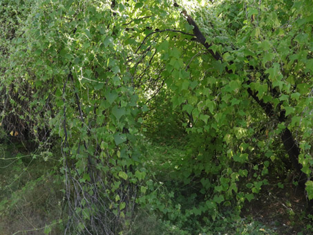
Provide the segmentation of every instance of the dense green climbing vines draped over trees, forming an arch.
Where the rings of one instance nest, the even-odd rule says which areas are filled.
[[[3,0],[2,138],[61,153],[65,234],[138,232],[140,209],[173,234],[218,232],[287,174],[310,213],[311,5]],[[184,145],[171,172],[146,138]]]

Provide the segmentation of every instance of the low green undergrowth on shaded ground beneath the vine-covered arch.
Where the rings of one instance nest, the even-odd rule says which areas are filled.
[[[253,218],[240,218],[231,209],[216,214],[214,223],[190,220],[192,216],[188,217],[187,211],[201,201],[192,193],[197,186],[192,188],[182,177],[182,164],[189,158],[187,144],[184,138],[169,141],[144,138],[142,141],[149,180],[147,194],[140,198],[142,209],[135,220],[136,234],[150,234],[146,232],[148,228],[156,227],[159,229],[155,234],[276,234]]]

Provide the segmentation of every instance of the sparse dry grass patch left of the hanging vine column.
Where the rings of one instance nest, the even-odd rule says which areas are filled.
[[[60,234],[63,195],[53,162],[33,159],[14,144],[1,144],[0,152],[0,235],[44,234],[45,228]]]

